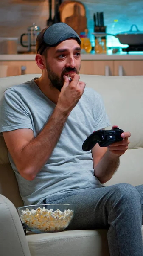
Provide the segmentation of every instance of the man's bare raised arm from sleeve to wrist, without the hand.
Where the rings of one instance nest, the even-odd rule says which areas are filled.
[[[48,161],[66,119],[67,115],[55,109],[48,123],[35,138],[31,129],[3,132],[8,151],[22,177],[34,180],[36,174]]]

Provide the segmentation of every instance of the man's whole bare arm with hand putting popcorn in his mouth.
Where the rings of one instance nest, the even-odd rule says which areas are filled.
[[[72,109],[84,92],[85,83],[79,75],[73,76],[69,84],[66,77],[57,105],[43,130],[34,138],[31,129],[3,132],[8,151],[18,172],[27,180],[34,180],[42,166],[48,161],[59,140],[64,124]]]

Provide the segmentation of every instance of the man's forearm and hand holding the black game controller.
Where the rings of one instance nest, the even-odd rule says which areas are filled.
[[[101,148],[96,144],[92,149],[94,175],[102,184],[110,180],[118,169],[119,158],[128,149],[130,136],[129,132],[124,132],[121,134],[122,141],[112,143],[107,148]]]

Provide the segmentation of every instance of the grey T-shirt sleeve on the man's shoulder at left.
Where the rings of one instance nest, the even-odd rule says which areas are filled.
[[[0,132],[20,128],[33,130],[28,108],[22,95],[17,90],[10,88],[4,92],[0,101]]]

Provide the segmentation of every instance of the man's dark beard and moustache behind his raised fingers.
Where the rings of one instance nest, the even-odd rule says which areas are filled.
[[[58,89],[59,91],[61,91],[63,85],[64,85],[64,74],[68,73],[69,71],[73,71],[76,74],[79,74],[79,70],[77,71],[76,68],[71,68],[71,67],[65,67],[62,70],[61,76],[58,76],[56,73],[54,73],[51,69],[50,66],[47,64],[46,65],[46,70],[47,70],[47,74],[48,74],[48,78],[50,79],[50,86],[53,88]]]

